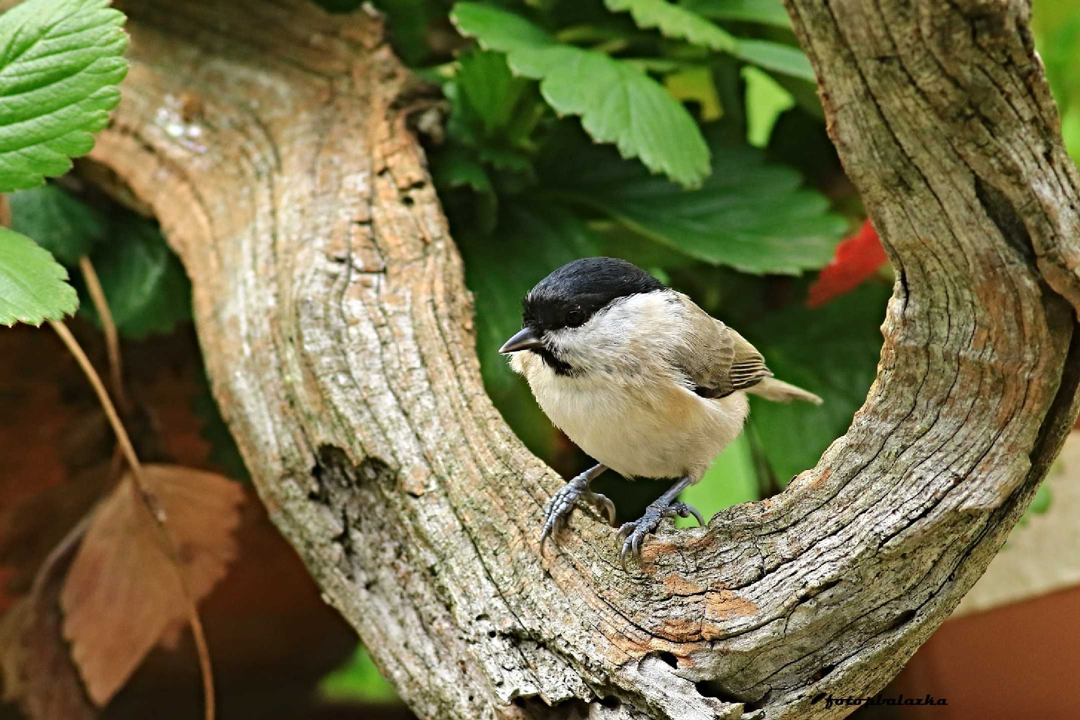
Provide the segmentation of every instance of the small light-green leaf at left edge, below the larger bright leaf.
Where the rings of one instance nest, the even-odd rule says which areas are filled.
[[[0,228],[0,325],[63,320],[79,307],[67,270],[26,235]]]

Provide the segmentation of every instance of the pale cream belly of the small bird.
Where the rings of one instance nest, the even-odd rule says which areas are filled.
[[[552,422],[586,454],[626,477],[700,479],[742,432],[748,409],[744,393],[706,399],[674,382],[632,392],[610,381],[528,369],[532,393]]]

